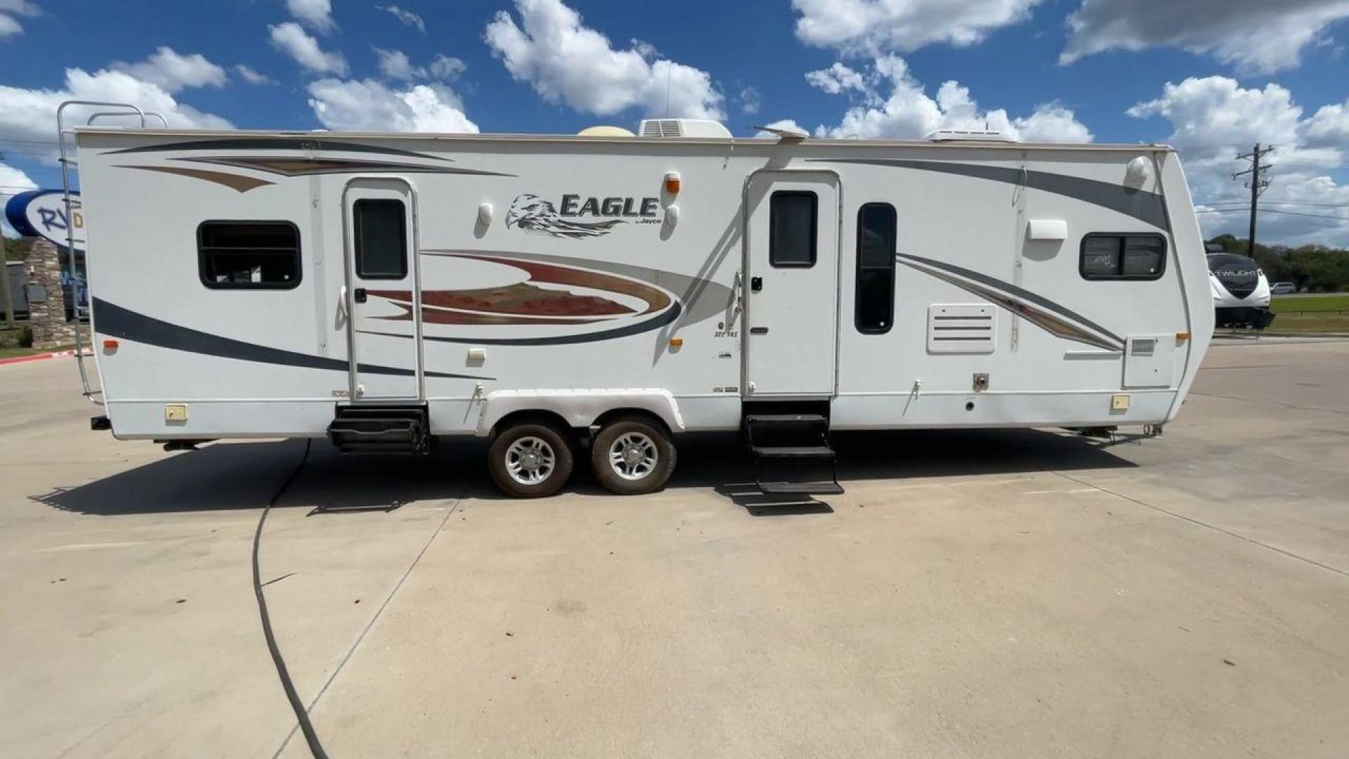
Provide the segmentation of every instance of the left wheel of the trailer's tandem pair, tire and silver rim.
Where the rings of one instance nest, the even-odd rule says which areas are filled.
[[[544,421],[525,421],[496,434],[487,451],[487,471],[507,496],[542,498],[567,485],[575,461],[565,432]]]

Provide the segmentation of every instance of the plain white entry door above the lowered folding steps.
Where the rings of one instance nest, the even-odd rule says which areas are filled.
[[[759,172],[746,192],[745,394],[832,396],[838,177]]]

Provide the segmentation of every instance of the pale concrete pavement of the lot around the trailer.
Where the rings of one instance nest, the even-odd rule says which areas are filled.
[[[727,439],[544,501],[475,443],[316,444],[268,604],[335,758],[1341,756],[1346,370],[1221,343],[1143,443],[840,436],[847,493],[786,511],[728,496]],[[117,443],[76,385],[0,369],[0,751],[305,756],[248,575],[302,443]]]

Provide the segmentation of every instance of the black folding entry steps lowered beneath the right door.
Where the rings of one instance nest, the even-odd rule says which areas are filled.
[[[823,413],[757,407],[745,415],[745,435],[754,456],[754,481],[764,493],[843,492],[830,447],[830,420]]]

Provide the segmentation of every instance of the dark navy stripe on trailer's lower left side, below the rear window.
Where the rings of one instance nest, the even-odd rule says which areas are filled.
[[[179,327],[169,321],[136,313],[108,303],[93,298],[94,320],[97,331],[111,338],[121,338],[136,343],[156,346],[175,351],[232,358],[236,361],[251,361],[256,363],[274,363],[278,366],[298,366],[302,369],[325,369],[329,371],[348,371],[351,363],[340,358],[309,355],[281,348],[268,348],[255,343],[246,343],[231,338],[221,338],[209,332]],[[356,367],[364,374],[389,374],[394,377],[411,377],[411,369],[393,366],[378,366],[362,363]],[[425,371],[426,377],[445,380],[492,380],[492,377],[472,377],[468,374],[447,374],[442,371]]]

